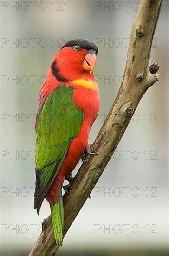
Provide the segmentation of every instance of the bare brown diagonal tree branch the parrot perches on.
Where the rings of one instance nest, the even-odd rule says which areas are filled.
[[[127,62],[123,81],[110,112],[92,146],[97,155],[88,155],[64,195],[64,236],[84,205],[109,162],[136,107],[147,89],[159,75],[158,63],[149,67],[150,50],[162,0],[141,0],[132,24]],[[51,216],[45,220],[43,230],[29,256],[50,256],[59,249],[55,243]]]

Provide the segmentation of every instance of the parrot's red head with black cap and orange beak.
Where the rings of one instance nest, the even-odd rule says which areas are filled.
[[[52,60],[52,74],[60,82],[80,78],[93,80],[97,46],[89,40],[68,41]]]

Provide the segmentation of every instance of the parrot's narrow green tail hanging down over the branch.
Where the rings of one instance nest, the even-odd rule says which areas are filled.
[[[54,237],[55,237],[56,243],[60,246],[62,245],[63,226],[64,226],[64,207],[63,207],[61,186],[59,186],[59,194],[60,196],[56,204],[51,205],[51,215],[52,215]]]

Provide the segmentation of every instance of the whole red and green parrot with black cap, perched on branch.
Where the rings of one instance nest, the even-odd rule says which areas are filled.
[[[56,243],[63,243],[64,180],[86,153],[91,126],[100,109],[93,70],[98,48],[90,40],[70,40],[58,50],[39,93],[36,115],[34,209],[39,214],[46,198],[50,205]],[[67,191],[65,189],[65,191]]]

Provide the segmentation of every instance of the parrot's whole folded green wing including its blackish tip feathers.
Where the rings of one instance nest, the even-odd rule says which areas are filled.
[[[34,209],[45,195],[64,161],[72,138],[78,136],[83,113],[75,106],[73,88],[59,86],[49,94],[36,128],[36,189]]]

